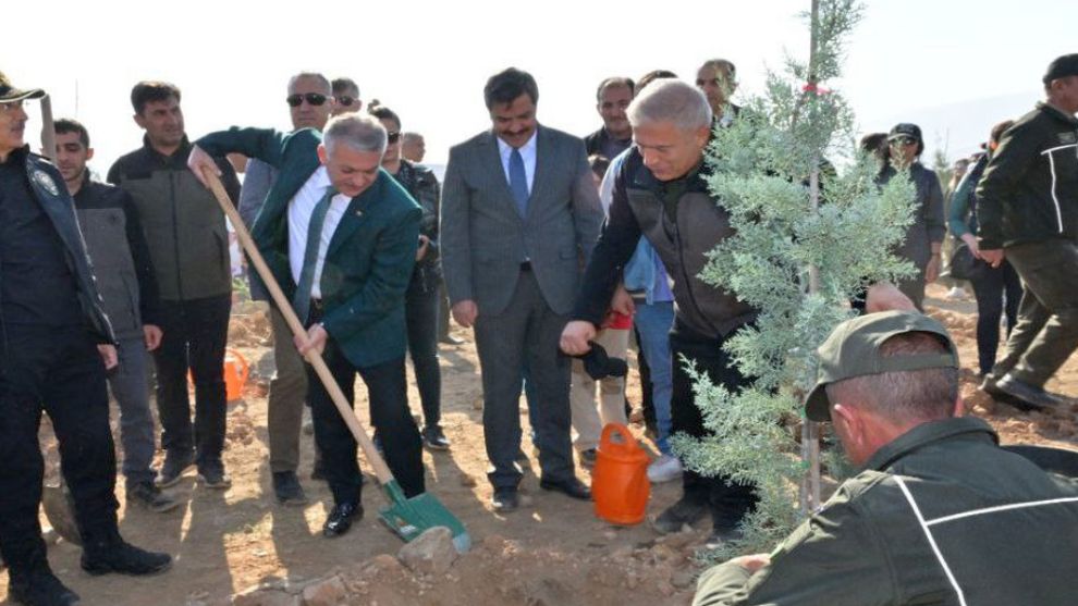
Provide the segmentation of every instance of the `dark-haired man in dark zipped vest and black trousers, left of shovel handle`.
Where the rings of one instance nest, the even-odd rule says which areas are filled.
[[[167,488],[198,466],[208,487],[232,484],[224,472],[224,345],[232,311],[229,234],[217,200],[187,170],[191,143],[184,134],[180,89],[142,82],[131,91],[135,123],[146,131],[142,148],[117,160],[109,183],[131,195],[143,219],[161,294],[161,346],[157,363],[157,408],[164,463],[157,483]],[[218,159],[233,200],[240,182],[232,164]],[[187,373],[195,381],[191,421]]]

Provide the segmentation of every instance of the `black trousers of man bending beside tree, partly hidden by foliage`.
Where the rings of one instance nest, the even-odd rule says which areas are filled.
[[[737,370],[734,360],[723,350],[723,343],[675,323],[674,331],[670,334],[674,360],[674,393],[670,401],[672,433],[684,432],[693,437],[707,434],[703,415],[696,406],[693,394],[693,379],[685,371],[682,356],[695,362],[697,369],[707,373],[715,384],[727,389],[737,391],[749,383]],[[689,469],[682,474],[682,488],[683,498],[708,504],[716,529],[735,527],[759,500],[752,486],[733,483],[725,475],[707,478]]]

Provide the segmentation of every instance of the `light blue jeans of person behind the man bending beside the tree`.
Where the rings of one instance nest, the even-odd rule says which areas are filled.
[[[654,406],[659,452],[671,454],[670,431],[672,426],[670,400],[674,392],[673,362],[670,353],[670,330],[674,325],[674,301],[657,301],[651,305],[637,301],[637,338],[640,353],[648,360],[651,383],[651,401]]]

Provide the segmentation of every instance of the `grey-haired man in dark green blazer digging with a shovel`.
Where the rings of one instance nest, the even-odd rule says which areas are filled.
[[[377,120],[351,113],[330,120],[324,134],[211,133],[198,140],[188,164],[201,176],[201,170],[215,170],[211,156],[238,151],[280,172],[252,236],[308,326],[296,347],[303,355],[322,353],[350,403],[359,373],[385,462],[412,497],[425,488],[419,430],[408,411],[404,374],[404,293],[422,212],[380,169],[385,145],[385,129]],[[313,369],[307,382],[315,441],[335,503],[322,533],[339,536],[363,517],[356,441]]]

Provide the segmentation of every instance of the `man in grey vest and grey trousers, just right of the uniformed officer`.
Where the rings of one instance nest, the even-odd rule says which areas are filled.
[[[160,301],[146,237],[131,196],[90,178],[89,133],[74,120],[58,120],[57,168],[75,200],[98,292],[119,342],[120,364],[109,386],[120,405],[120,440],[127,503],[168,511],[180,503],[154,484],[154,415],[149,408],[147,351],[161,344]]]

